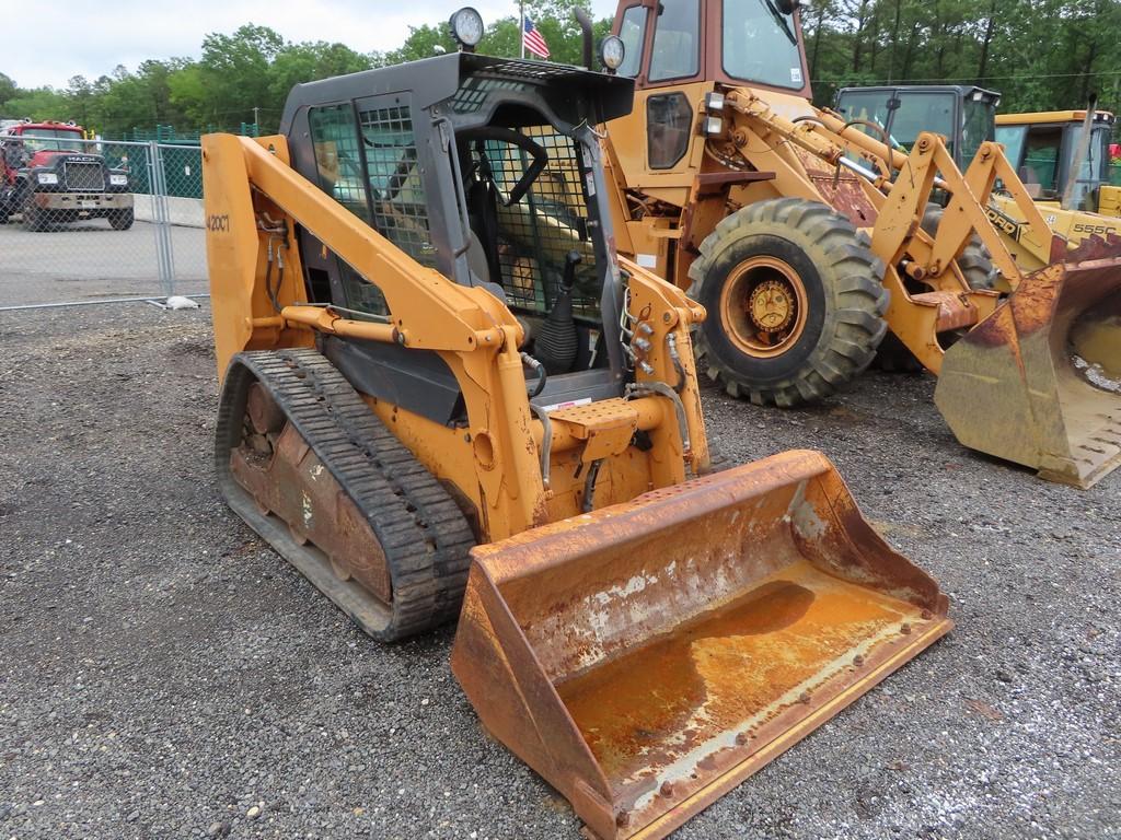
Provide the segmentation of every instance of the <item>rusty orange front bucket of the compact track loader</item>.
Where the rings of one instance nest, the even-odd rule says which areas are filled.
[[[602,840],[666,837],[952,626],[818,452],[472,554],[452,669]]]

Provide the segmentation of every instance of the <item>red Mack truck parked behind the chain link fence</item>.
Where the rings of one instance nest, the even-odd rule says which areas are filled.
[[[85,218],[132,226],[129,174],[86,151],[73,122],[6,121],[0,128],[0,224],[20,214],[29,231],[57,230]]]

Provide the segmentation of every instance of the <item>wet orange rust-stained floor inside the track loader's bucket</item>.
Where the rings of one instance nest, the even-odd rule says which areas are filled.
[[[799,562],[557,692],[608,778],[634,781],[798,702],[899,627],[898,604]]]

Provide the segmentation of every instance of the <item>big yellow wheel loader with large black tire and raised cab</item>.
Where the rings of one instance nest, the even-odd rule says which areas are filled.
[[[1081,487],[1121,463],[1115,361],[1069,348],[1121,329],[1121,249],[1067,253],[999,144],[963,172],[934,132],[905,152],[815,109],[797,0],[621,0],[613,31],[636,81],[604,141],[619,249],[706,308],[696,351],[729,393],[819,400],[891,336],[965,446]],[[1038,272],[989,223],[998,180],[1054,245]]]

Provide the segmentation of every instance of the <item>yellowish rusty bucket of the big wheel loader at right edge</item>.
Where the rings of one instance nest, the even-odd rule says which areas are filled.
[[[964,446],[1092,486],[1121,464],[1121,261],[1026,277],[946,352],[934,400]]]

